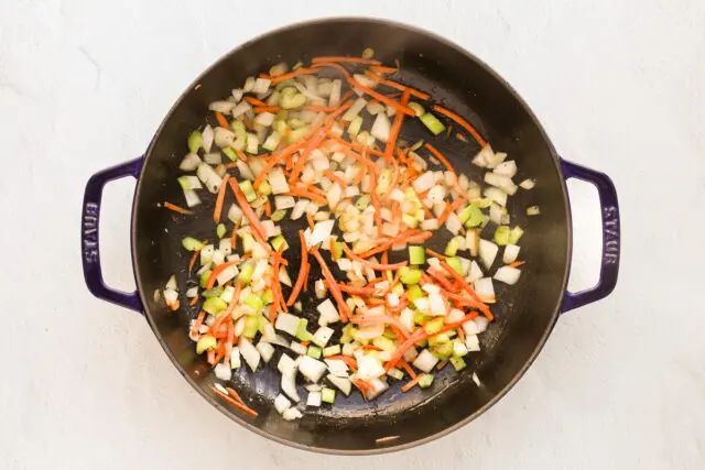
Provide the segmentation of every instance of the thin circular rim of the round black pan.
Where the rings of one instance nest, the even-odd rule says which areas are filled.
[[[248,40],[247,42],[245,42],[245,43],[231,48],[226,54],[224,54],[221,57],[219,57],[217,61],[215,61],[213,64],[210,64],[206,69],[204,69],[196,77],[196,79],[194,79],[185,88],[185,90],[174,101],[174,103],[170,108],[169,112],[164,116],[164,119],[161,121],[158,130],[154,132],[154,136],[152,138],[152,140],[151,140],[151,142],[150,142],[144,155],[142,156],[143,164],[142,164],[142,167],[140,170],[140,175],[138,177],[135,189],[134,189],[134,197],[133,197],[133,200],[132,200],[131,221],[130,221],[130,245],[131,245],[130,251],[131,251],[131,256],[132,256],[132,269],[133,269],[133,272],[134,272],[134,280],[135,280],[135,284],[137,284],[137,291],[139,292],[142,305],[143,306],[149,305],[149,299],[147,298],[147,294],[144,293],[144,289],[141,288],[141,285],[142,285],[141,280],[140,280],[141,273],[140,273],[140,270],[139,270],[139,266],[138,266],[138,262],[137,262],[138,253],[137,253],[137,243],[134,242],[134,240],[138,238],[138,233],[137,233],[138,200],[139,200],[139,195],[141,193],[141,188],[142,188],[142,182],[144,181],[143,174],[145,173],[145,168],[147,168],[145,163],[147,163],[148,159],[150,157],[150,155],[152,154],[152,151],[153,151],[154,144],[155,144],[156,140],[158,140],[158,136],[162,133],[162,130],[164,129],[164,127],[169,122],[169,120],[172,117],[174,110],[182,103],[182,101],[186,98],[186,96],[202,81],[202,79],[205,76],[207,76],[213,69],[218,67],[221,63],[228,61],[230,56],[232,56],[234,54],[237,54],[238,52],[240,52],[240,51],[245,50],[246,47],[248,47],[251,43],[253,43],[256,41],[260,41],[260,40],[265,39],[268,36],[272,36],[272,35],[280,34],[280,33],[283,33],[283,32],[286,32],[286,31],[291,31],[291,30],[296,30],[296,29],[301,29],[301,28],[311,28],[311,26],[316,26],[316,25],[326,24],[326,23],[340,23],[340,22],[371,23],[371,24],[377,24],[377,25],[393,26],[393,28],[397,28],[397,29],[400,29],[400,30],[405,30],[408,32],[412,32],[412,33],[415,33],[415,34],[420,34],[420,35],[426,36],[431,41],[435,41],[435,42],[438,42],[438,43],[441,43],[441,44],[443,44],[445,46],[452,47],[455,51],[457,51],[458,53],[460,53],[464,56],[466,56],[468,59],[475,62],[486,73],[488,73],[494,79],[496,79],[499,84],[501,84],[512,95],[512,97],[517,100],[517,102],[523,108],[523,110],[528,113],[528,116],[529,116],[531,122],[533,123],[533,125],[535,125],[535,128],[539,130],[539,133],[542,136],[543,141],[546,143],[546,146],[547,146],[547,149],[549,149],[549,151],[551,153],[551,156],[553,159],[553,163],[555,165],[556,173],[561,176],[561,193],[562,193],[563,199],[565,200],[565,220],[566,220],[566,237],[567,237],[567,240],[566,240],[566,262],[565,262],[564,269],[563,269],[563,275],[562,275],[562,282],[561,282],[562,283],[561,292],[563,294],[565,294],[566,288],[567,288],[567,281],[568,281],[568,275],[570,275],[570,271],[571,271],[571,261],[572,261],[572,254],[573,254],[573,220],[572,220],[572,215],[571,215],[571,204],[570,204],[570,199],[568,199],[568,195],[567,195],[567,186],[566,186],[566,183],[565,183],[565,177],[563,175],[563,170],[561,167],[561,157],[556,153],[555,147],[553,146],[553,143],[549,139],[549,135],[546,134],[543,125],[541,125],[541,123],[540,123],[539,119],[536,118],[536,116],[533,113],[533,111],[531,110],[529,105],[517,92],[517,90],[507,80],[505,80],[499,74],[497,74],[489,65],[487,65],[484,61],[481,61],[476,55],[474,55],[473,53],[467,51],[465,47],[460,46],[459,44],[457,44],[457,43],[455,43],[453,41],[449,41],[448,39],[445,39],[445,37],[438,35],[438,34],[436,34],[434,32],[431,32],[429,30],[425,30],[425,29],[422,29],[422,28],[417,28],[417,26],[413,26],[413,25],[410,25],[410,24],[406,24],[406,23],[393,21],[393,20],[387,20],[387,19],[377,19],[377,18],[369,18],[369,17],[327,17],[327,18],[319,18],[319,19],[313,19],[313,20],[306,20],[306,21],[300,21],[300,22],[295,22],[295,23],[290,23],[288,25],[284,25],[284,26],[281,26],[281,28],[276,28],[276,29],[270,30],[268,32],[264,32],[262,34],[259,34],[259,35]],[[172,361],[172,363],[174,364],[176,370],[184,376],[184,379],[191,384],[191,386],[200,396],[203,396],[208,403],[210,403],[215,408],[220,411],[223,414],[228,416],[234,422],[238,423],[240,426],[242,426],[246,429],[248,429],[250,431],[253,431],[257,435],[262,436],[262,437],[264,437],[264,438],[267,438],[269,440],[275,441],[278,444],[283,444],[283,445],[285,445],[288,447],[292,447],[292,448],[295,448],[295,449],[307,450],[307,451],[318,452],[318,453],[326,453],[326,455],[371,456],[371,455],[381,455],[381,453],[394,452],[394,451],[399,451],[399,450],[410,449],[410,448],[413,448],[413,447],[416,447],[416,446],[422,446],[424,444],[429,444],[429,442],[431,442],[431,441],[433,441],[435,439],[438,439],[441,437],[447,436],[447,435],[452,434],[453,431],[466,426],[467,424],[469,424],[470,422],[475,420],[480,415],[482,415],[485,412],[487,412],[489,408],[495,406],[502,397],[505,397],[507,395],[507,393],[527,373],[529,368],[533,364],[533,362],[538,358],[539,353],[543,350],[549,337],[551,336],[551,332],[553,331],[553,328],[555,327],[555,324],[556,324],[556,321],[558,319],[558,316],[561,315],[561,304],[563,302],[563,296],[564,295],[561,295],[558,298],[556,298],[551,321],[546,326],[545,331],[543,332],[543,335],[541,336],[541,338],[536,342],[536,346],[533,349],[533,351],[531,352],[531,354],[529,354],[527,357],[527,360],[525,360],[524,364],[514,374],[514,376],[507,383],[507,385],[505,387],[502,387],[500,391],[498,391],[495,394],[495,396],[492,396],[485,405],[482,405],[481,407],[479,407],[477,411],[475,411],[474,413],[469,414],[465,418],[458,420],[457,423],[455,423],[453,425],[449,425],[446,428],[444,428],[444,429],[442,429],[442,430],[440,430],[437,433],[431,434],[429,436],[425,436],[423,438],[415,439],[415,440],[412,440],[412,441],[409,441],[409,442],[404,442],[404,444],[400,444],[400,445],[390,445],[390,446],[386,446],[386,447],[376,447],[376,448],[367,448],[367,449],[355,449],[355,450],[334,449],[334,448],[327,448],[327,447],[317,447],[317,446],[304,445],[304,444],[296,442],[296,441],[293,441],[293,440],[284,439],[284,438],[281,438],[279,436],[275,436],[273,434],[270,434],[270,433],[268,433],[268,431],[265,431],[263,429],[260,429],[259,427],[257,427],[257,426],[252,425],[251,423],[245,420],[243,418],[239,417],[238,415],[232,413],[230,409],[228,409],[226,406],[224,406],[220,402],[218,402],[214,396],[212,396],[208,393],[206,393],[204,387],[198,385],[195,380],[193,380],[191,376],[188,376],[188,374],[185,372],[185,370],[178,363],[178,361],[177,361],[176,357],[174,356],[173,351],[166,346],[166,341],[163,338],[163,336],[154,327],[154,323],[152,320],[152,314],[147,308],[144,308],[144,314],[145,314],[144,316],[147,318],[148,324],[150,325],[150,328],[154,332],[154,336],[159,340],[162,349],[164,350],[164,352],[166,353],[169,359]]]

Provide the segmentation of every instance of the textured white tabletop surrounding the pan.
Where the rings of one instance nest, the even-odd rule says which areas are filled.
[[[703,1],[2,0],[0,11],[0,468],[705,468]],[[558,152],[614,177],[623,230],[615,294],[561,318],[499,405],[370,458],[239,428],[191,390],[141,316],[87,293],[79,265],[91,173],[139,155],[235,45],[343,14],[409,22],[487,61]],[[106,276],[124,288],[132,188],[110,186],[104,205]],[[598,211],[592,192],[571,189],[572,285],[585,286]]]

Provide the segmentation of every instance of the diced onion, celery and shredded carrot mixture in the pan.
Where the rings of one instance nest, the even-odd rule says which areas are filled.
[[[215,199],[213,238],[182,240],[193,252],[189,337],[224,384],[279,350],[273,404],[288,420],[354,387],[373,400],[390,381],[408,392],[431,386],[447,364],[465,369],[494,319],[494,283],[521,275],[523,230],[506,207],[534,182],[514,184],[514,161],[371,56],[314,57],[291,70],[279,64],[210,103],[209,123],[191,133],[181,162],[176,203],[188,208],[163,205],[189,217],[202,198]],[[427,141],[402,140],[414,120]],[[486,168],[484,182],[455,172],[436,149],[445,140],[468,153],[479,144],[473,163]],[[282,234],[292,223],[305,227],[299,240]],[[424,248],[445,231],[443,253]],[[312,266],[321,277],[310,285]],[[155,295],[182,308],[175,276]],[[312,295],[315,321],[300,300]],[[218,383],[214,392],[257,416],[234,389]]]

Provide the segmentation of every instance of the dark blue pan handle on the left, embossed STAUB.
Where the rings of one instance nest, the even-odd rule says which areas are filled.
[[[113,179],[133,176],[135,179],[142,170],[143,159],[134,159],[129,162],[106,168],[96,173],[86,184],[84,194],[83,218],[80,222],[80,251],[84,264],[84,278],[88,291],[96,297],[112,302],[132,310],[142,311],[140,296],[135,292],[127,293],[116,291],[106,285],[100,269],[100,251],[98,243],[98,227],[100,221],[100,200],[102,188]]]

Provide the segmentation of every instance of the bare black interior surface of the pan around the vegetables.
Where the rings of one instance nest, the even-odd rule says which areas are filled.
[[[152,298],[154,289],[162,288],[171,274],[176,274],[182,292],[192,285],[186,275],[189,253],[182,249],[181,239],[193,236],[215,240],[214,201],[204,198],[198,215],[188,218],[174,216],[159,204],[182,201],[176,183],[182,173],[178,164],[186,153],[188,133],[204,124],[210,101],[227,97],[246,77],[281,61],[293,64],[300,59],[306,63],[317,55],[359,56],[365,47],[372,47],[375,57],[384,63],[398,61],[401,73],[394,79],[431,92],[434,101],[468,119],[495,150],[516,160],[520,168],[517,181],[538,179],[535,189],[518,193],[508,207],[512,225],[527,229],[521,241],[521,259],[527,261],[527,267],[517,285],[496,283],[496,321],[480,336],[482,351],[468,357],[468,368],[462,373],[448,367],[436,375],[431,389],[415,387],[410,393],[401,393],[401,384],[390,380],[392,387],[371,402],[364,401],[359,393],[347,398],[338,393],[335,406],[307,409],[301,420],[286,423],[272,406],[280,390],[278,353],[273,363],[257,373],[241,368],[234,376],[234,387],[259,413],[258,418],[251,419],[224,405],[210,392],[215,376],[187,338],[188,321],[198,309],[167,314]],[[420,122],[408,121],[402,139],[432,142],[458,172],[481,182],[481,168],[470,164],[479,150],[475,142],[429,139]],[[226,208],[231,201],[228,195]],[[528,219],[524,209],[529,205],[541,206],[541,217]],[[297,231],[304,223],[286,221],[282,227],[292,245],[285,258],[293,275],[300,263]],[[460,47],[424,31],[377,20],[335,19],[278,30],[234,50],[206,70],[174,105],[149,147],[137,188],[132,230],[134,270],[148,319],[189,383],[232,419],[259,434],[291,446],[336,453],[380,452],[426,441],[494,404],[522,375],[546,340],[558,315],[570,267],[571,222],[563,176],[551,142],[527,105]],[[491,223],[486,230],[494,231]],[[442,251],[448,239],[449,233],[440,230],[425,244]],[[400,252],[401,256],[405,251]],[[394,256],[390,260],[394,261]],[[319,277],[313,264],[310,286]],[[311,291],[302,300],[304,316],[315,324],[319,300]],[[479,376],[480,386],[473,382],[473,372]],[[305,396],[303,383],[300,392]],[[378,440],[387,437],[394,438]]]

